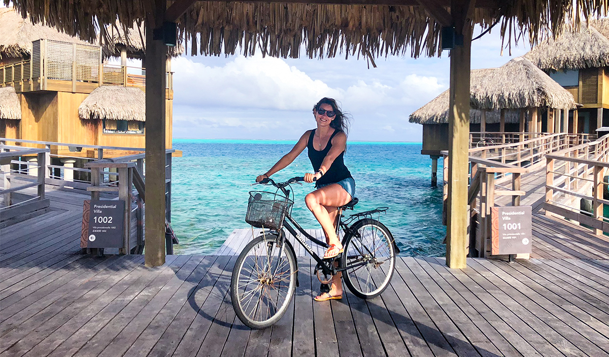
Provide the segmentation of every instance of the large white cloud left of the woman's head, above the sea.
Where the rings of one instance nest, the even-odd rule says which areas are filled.
[[[338,94],[280,58],[238,56],[222,67],[209,67],[179,57],[172,68],[177,104],[311,110],[319,98]]]

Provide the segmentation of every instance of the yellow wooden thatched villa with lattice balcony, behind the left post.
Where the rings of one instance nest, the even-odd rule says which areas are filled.
[[[0,121],[0,137],[47,142],[54,165],[80,168],[85,160],[79,157],[99,158],[99,152],[79,144],[144,148],[146,69],[127,66],[127,58],[144,58],[144,32],[134,26],[126,33],[121,25],[108,26],[95,41],[102,46],[96,46],[32,24],[15,9],[0,9],[0,112],[13,113]],[[171,56],[180,50],[172,47],[166,66],[167,148],[172,145]],[[108,63],[111,57],[121,63]],[[64,174],[57,169],[51,177]]]

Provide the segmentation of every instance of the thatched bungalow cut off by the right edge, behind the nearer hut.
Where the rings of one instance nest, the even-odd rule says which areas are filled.
[[[591,19],[580,30],[546,39],[524,57],[581,104],[568,116],[569,132],[594,134],[609,125],[609,19]]]

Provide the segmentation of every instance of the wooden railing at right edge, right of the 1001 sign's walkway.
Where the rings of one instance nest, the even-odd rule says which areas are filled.
[[[604,205],[609,205],[607,169],[609,135],[546,155],[546,214],[587,226],[595,234],[609,233]]]

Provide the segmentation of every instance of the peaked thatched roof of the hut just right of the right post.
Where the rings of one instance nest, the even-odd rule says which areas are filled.
[[[470,96],[471,106],[476,109],[576,107],[568,90],[522,57],[516,57],[472,81]]]

